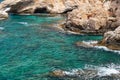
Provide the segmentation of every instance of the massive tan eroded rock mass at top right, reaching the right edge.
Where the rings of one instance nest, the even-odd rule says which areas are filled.
[[[64,29],[104,34],[120,26],[120,0],[81,0],[79,7],[68,13]]]

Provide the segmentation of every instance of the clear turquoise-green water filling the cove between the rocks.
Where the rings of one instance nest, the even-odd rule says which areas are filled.
[[[1,21],[0,80],[47,80],[42,75],[55,69],[120,64],[114,52],[76,47],[77,41],[102,36],[63,33],[56,28],[61,20],[64,17],[11,15]]]

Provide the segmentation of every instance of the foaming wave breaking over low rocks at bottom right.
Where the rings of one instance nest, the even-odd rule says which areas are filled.
[[[77,80],[119,80],[120,66],[114,64],[107,66],[86,65],[84,69],[55,70],[52,72],[52,77],[64,78],[65,80],[66,78]]]

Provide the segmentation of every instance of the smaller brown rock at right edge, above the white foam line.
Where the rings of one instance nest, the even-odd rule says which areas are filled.
[[[120,26],[114,31],[106,32],[103,40],[98,45],[106,46],[113,50],[120,50]]]

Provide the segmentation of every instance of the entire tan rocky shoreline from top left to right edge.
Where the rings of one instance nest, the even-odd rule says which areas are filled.
[[[0,20],[7,19],[8,13],[67,14],[66,22],[61,25],[65,31],[104,35],[94,45],[120,50],[119,0],[4,0],[0,3],[0,12]]]

